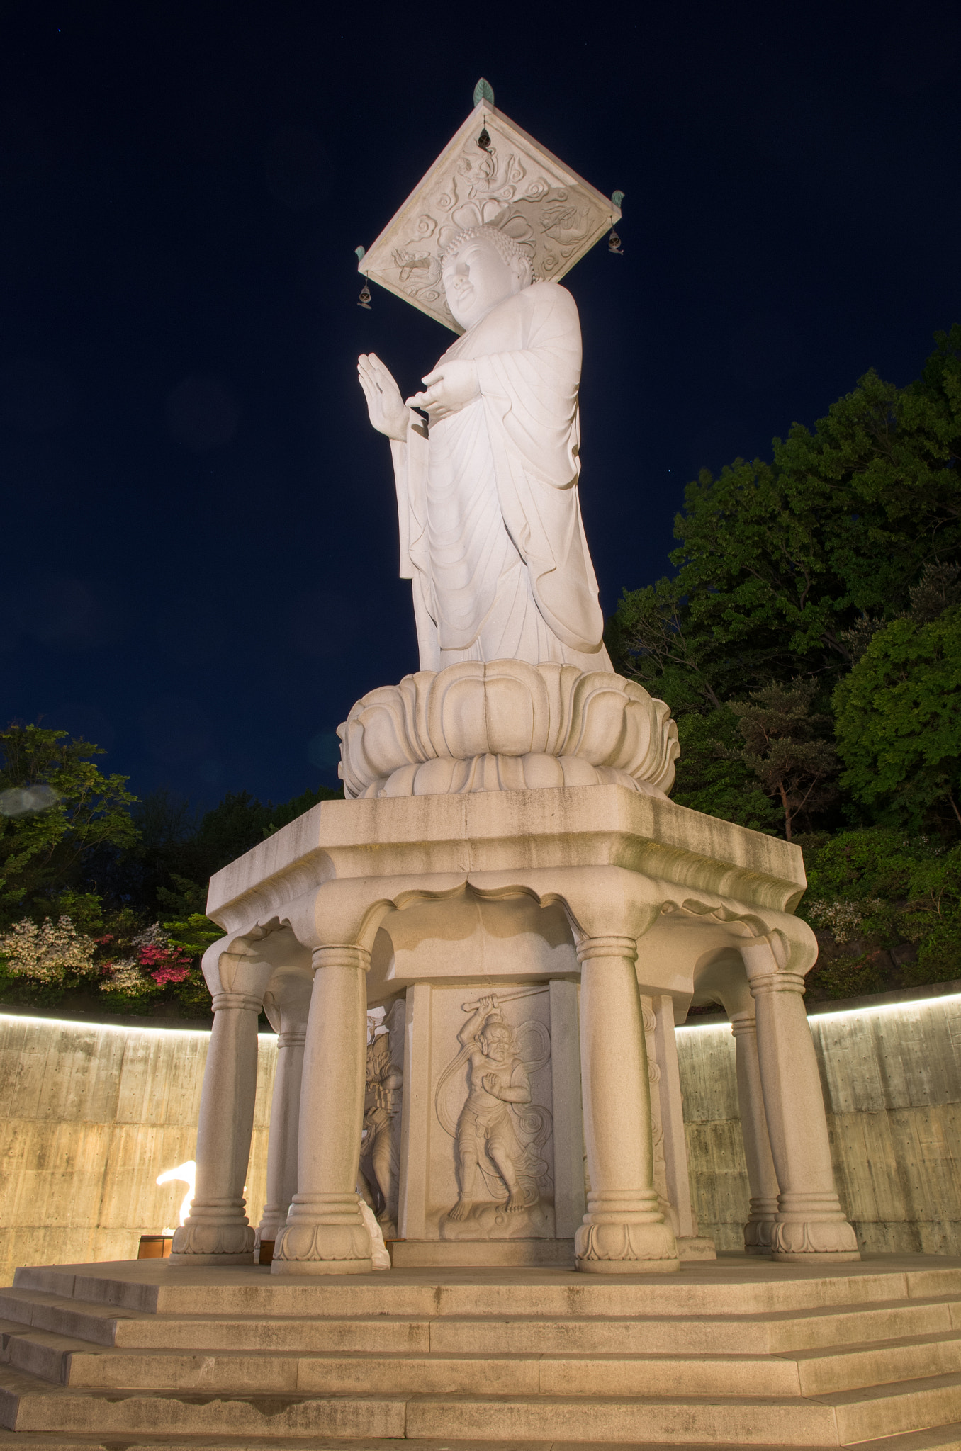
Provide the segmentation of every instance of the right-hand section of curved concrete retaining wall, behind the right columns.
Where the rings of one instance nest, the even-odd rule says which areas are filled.
[[[809,1017],[841,1203],[862,1249],[961,1255],[961,994]],[[703,1235],[740,1249],[748,1172],[730,1024],[678,1029]]]

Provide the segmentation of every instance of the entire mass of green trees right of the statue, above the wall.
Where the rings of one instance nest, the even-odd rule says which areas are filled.
[[[703,472],[675,537],[607,628],[678,717],[675,801],[801,842],[813,991],[961,972],[961,326]]]

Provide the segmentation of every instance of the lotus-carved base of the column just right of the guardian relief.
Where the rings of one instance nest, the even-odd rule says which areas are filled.
[[[624,1199],[627,1196],[588,1196],[588,1213],[573,1236],[575,1268],[582,1274],[679,1271],[674,1230],[656,1209],[656,1194],[631,1194],[633,1207],[627,1207]],[[652,1209],[646,1207],[645,1199],[650,1199]]]

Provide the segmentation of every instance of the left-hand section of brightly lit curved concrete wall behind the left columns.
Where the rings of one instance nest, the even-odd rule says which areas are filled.
[[[210,1035],[0,1014],[0,1284],[23,1264],[129,1259],[177,1225]],[[277,1058],[260,1037],[247,1206],[264,1203]]]

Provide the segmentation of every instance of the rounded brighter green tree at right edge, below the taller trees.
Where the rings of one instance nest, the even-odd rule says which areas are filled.
[[[835,689],[842,785],[881,817],[917,830],[961,788],[961,607],[880,630]]]

